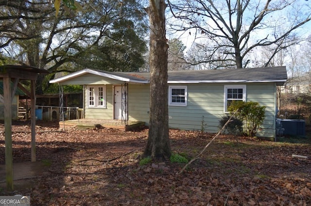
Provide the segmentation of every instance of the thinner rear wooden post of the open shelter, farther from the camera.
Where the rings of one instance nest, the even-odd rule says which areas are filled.
[[[35,80],[31,80],[31,161],[35,162]]]

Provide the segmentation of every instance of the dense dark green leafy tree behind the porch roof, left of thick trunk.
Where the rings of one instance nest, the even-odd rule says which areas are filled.
[[[138,71],[145,63],[146,41],[135,31],[128,19],[119,19],[112,26],[113,32],[72,61],[82,68],[106,71]],[[79,50],[85,50],[81,47]]]

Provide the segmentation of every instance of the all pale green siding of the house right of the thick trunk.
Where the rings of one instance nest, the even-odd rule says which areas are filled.
[[[275,137],[275,83],[247,83],[245,85],[246,101],[258,102],[266,106],[266,118],[258,136]],[[204,128],[206,132],[218,132],[219,120],[226,115],[224,113],[224,84],[183,84],[182,86],[187,86],[188,103],[187,106],[169,106],[170,128],[184,130]]]

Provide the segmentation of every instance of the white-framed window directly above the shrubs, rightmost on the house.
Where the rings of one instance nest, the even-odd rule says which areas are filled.
[[[246,102],[246,85],[225,85],[224,112],[232,101]]]

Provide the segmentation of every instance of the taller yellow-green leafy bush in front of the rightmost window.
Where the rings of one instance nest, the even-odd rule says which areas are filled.
[[[228,111],[233,114],[239,109],[236,116],[244,123],[243,133],[248,137],[255,137],[265,118],[265,108],[256,102],[233,101]]]

